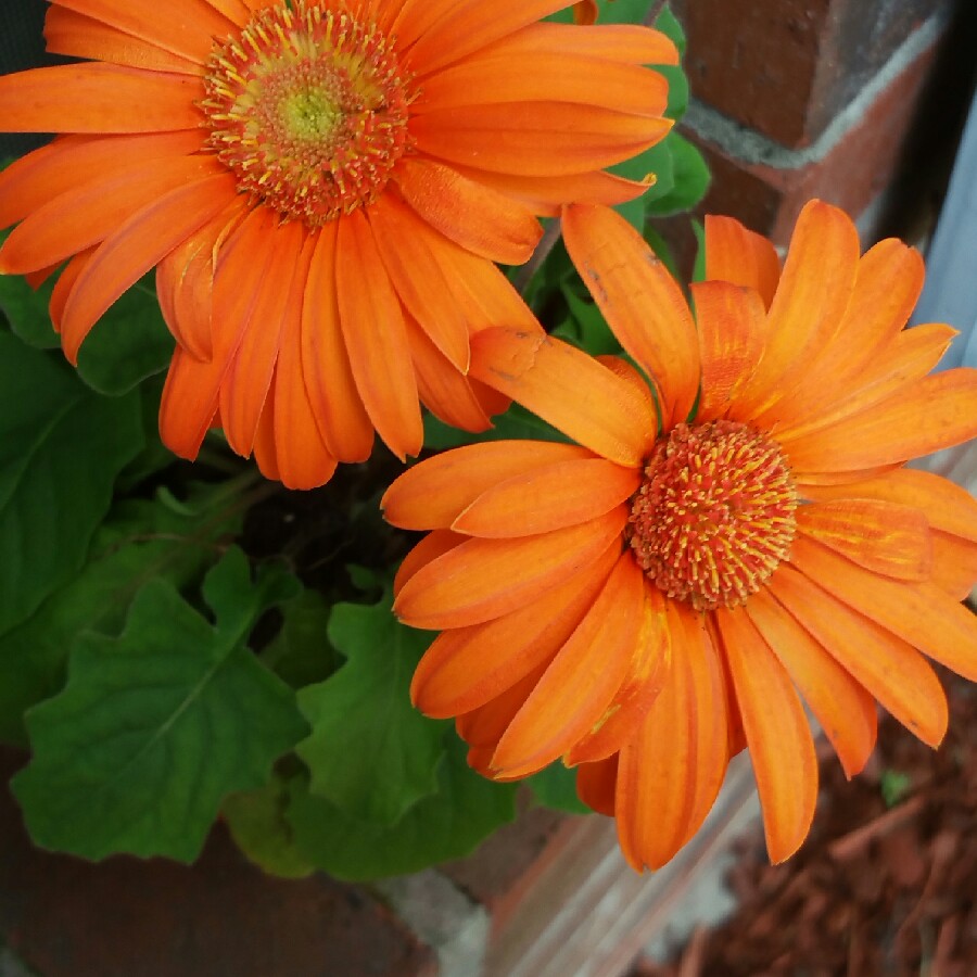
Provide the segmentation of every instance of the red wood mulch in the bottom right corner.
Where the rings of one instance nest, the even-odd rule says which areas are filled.
[[[773,867],[762,837],[741,839],[726,880],[736,915],[633,977],[975,977],[977,688],[943,678],[939,750],[887,716],[868,769],[849,783],[825,748],[801,850]]]

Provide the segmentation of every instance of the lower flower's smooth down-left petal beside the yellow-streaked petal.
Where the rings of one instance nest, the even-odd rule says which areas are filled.
[[[644,600],[644,573],[624,553],[499,740],[495,770],[510,777],[534,773],[593,729],[636,654]]]

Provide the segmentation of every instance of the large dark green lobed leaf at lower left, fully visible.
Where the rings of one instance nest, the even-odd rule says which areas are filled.
[[[231,549],[204,581],[214,625],[152,580],[120,637],[81,635],[64,691],[27,714],[34,759],[12,788],[31,838],[88,859],[195,859],[224,798],[266,784],[307,732],[244,644],[294,588],[280,571],[252,584]]]

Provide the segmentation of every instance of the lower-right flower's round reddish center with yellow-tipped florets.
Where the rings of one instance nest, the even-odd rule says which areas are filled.
[[[779,447],[746,424],[678,424],[634,496],[638,564],[697,610],[737,607],[790,551],[797,496]]]

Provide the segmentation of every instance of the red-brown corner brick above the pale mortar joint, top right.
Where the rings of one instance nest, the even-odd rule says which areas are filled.
[[[952,0],[678,0],[693,93],[795,149],[812,143]]]

